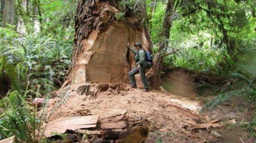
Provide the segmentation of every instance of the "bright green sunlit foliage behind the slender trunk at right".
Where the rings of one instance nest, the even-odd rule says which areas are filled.
[[[150,5],[151,2],[147,3]],[[165,7],[164,2],[158,1],[150,21],[151,36],[156,46],[161,41]],[[234,70],[235,63],[246,59],[245,52],[255,45],[252,7],[251,1],[182,1],[173,13],[167,53],[179,51],[165,57],[165,66],[218,74]],[[232,55],[227,47],[230,44],[223,41],[221,22],[233,44]]]

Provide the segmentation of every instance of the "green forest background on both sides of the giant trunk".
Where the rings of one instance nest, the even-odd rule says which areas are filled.
[[[62,85],[71,64],[76,3],[1,0],[0,139],[15,134],[36,140],[34,130],[45,115],[38,119],[36,109],[31,113],[26,101],[49,99],[51,91]],[[117,22],[125,20],[127,8],[136,13],[139,3],[119,1]],[[155,57],[162,56],[163,69],[182,68],[223,79],[216,97],[203,109],[212,109],[234,96],[255,103],[255,5],[254,0],[146,0],[145,26],[151,33]],[[167,35],[164,18],[169,21]],[[164,70],[160,73],[164,75]],[[198,88],[211,85],[201,83]],[[254,137],[255,122],[254,118],[249,123]]]

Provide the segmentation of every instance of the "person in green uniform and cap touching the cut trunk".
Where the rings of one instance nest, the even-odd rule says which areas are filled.
[[[147,83],[147,79],[146,79],[146,75],[145,75],[145,70],[147,68],[147,61],[146,61],[146,57],[145,57],[146,56],[145,51],[142,49],[140,42],[137,42],[134,45],[135,49],[130,47],[130,43],[127,43],[126,46],[129,49],[131,49],[131,51],[135,54],[134,60],[136,62],[136,67],[129,72],[131,87],[135,88],[135,89],[137,88],[134,75],[140,73],[140,78],[141,78],[141,81],[144,85],[144,92],[148,92],[149,91],[148,83]]]

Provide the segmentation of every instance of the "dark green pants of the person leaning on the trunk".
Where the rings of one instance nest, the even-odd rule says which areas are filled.
[[[148,83],[145,75],[146,67],[147,67],[147,63],[144,62],[143,65],[140,67],[140,69],[136,67],[129,72],[129,78],[132,86],[136,86],[136,80],[134,76],[140,73],[140,78],[144,85],[144,89],[148,89]]]

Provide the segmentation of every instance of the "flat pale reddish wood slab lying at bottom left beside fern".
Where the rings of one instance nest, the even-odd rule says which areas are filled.
[[[50,137],[51,133],[65,133],[68,129],[93,128],[96,127],[98,118],[98,115],[58,118],[46,125],[44,134]]]

